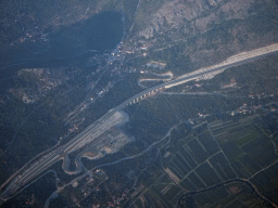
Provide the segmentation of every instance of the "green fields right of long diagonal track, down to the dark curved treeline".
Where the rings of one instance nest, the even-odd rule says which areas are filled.
[[[210,123],[239,179],[249,181],[264,197],[278,204],[278,156],[276,142],[264,130],[258,116],[237,122]],[[222,166],[223,167],[223,166]]]

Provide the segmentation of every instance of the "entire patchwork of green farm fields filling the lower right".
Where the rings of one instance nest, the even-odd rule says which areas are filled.
[[[274,141],[258,116],[177,129],[161,146],[162,171],[132,207],[271,207],[277,204]]]

